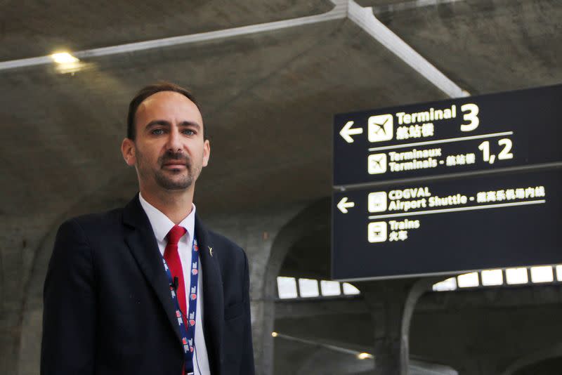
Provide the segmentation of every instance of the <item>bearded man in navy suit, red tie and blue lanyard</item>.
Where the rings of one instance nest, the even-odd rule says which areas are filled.
[[[143,88],[126,164],[140,193],[58,230],[44,286],[41,374],[254,374],[248,262],[195,212],[209,161],[189,91]]]

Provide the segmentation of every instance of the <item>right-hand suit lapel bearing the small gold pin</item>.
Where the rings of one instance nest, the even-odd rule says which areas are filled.
[[[218,267],[218,250],[213,249],[212,239],[197,213],[195,235],[200,245],[203,270],[203,330],[211,374],[221,369],[221,337],[224,321],[223,281]],[[212,255],[211,255],[212,254]]]

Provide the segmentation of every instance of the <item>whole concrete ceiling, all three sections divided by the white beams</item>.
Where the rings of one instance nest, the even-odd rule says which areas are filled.
[[[5,3],[0,60],[254,25],[333,6]],[[359,1],[473,94],[562,81],[560,1],[442,3]],[[190,86],[204,107],[212,156],[197,199],[209,214],[325,197],[333,114],[445,98],[348,19],[92,58],[75,74],[53,65],[3,70],[0,120],[9,136],[0,151],[1,213],[63,213],[92,190],[134,190],[134,173],[119,156],[126,104],[157,79]]]

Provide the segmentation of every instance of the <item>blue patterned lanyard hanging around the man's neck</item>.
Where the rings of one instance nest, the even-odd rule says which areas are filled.
[[[195,349],[195,317],[197,316],[197,282],[199,281],[199,277],[197,277],[197,274],[199,273],[197,268],[197,264],[199,263],[199,246],[197,246],[197,239],[195,238],[195,236],[193,237],[191,247],[191,283],[190,291],[188,294],[189,315],[186,319],[188,321],[187,329],[183,324],[182,311],[178,298],[176,298],[176,284],[174,283],[174,279],[171,276],[170,269],[168,268],[168,265],[164,260],[164,256],[162,256],[162,261],[164,262],[164,270],[166,270],[166,275],[168,275],[171,299],[176,303],[176,317],[178,318],[178,325],[180,327],[181,343],[183,344],[183,357],[185,358],[185,374],[188,375],[193,374],[193,351]],[[183,275],[183,277],[185,278],[185,275]]]

